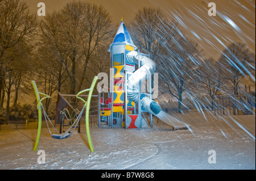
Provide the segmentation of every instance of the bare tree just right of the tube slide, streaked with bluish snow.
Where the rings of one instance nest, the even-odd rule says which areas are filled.
[[[178,112],[181,113],[183,93],[193,95],[190,88],[198,85],[197,69],[201,65],[203,51],[197,43],[185,37],[174,22],[163,23],[160,30],[159,87],[178,100]]]

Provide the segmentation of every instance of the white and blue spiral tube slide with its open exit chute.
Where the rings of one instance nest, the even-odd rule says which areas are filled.
[[[140,58],[139,58],[140,56]],[[140,64],[141,67],[130,75],[127,81],[127,89],[131,90],[127,92],[127,96],[138,104],[138,87],[139,82],[144,82],[147,76],[152,76],[154,74],[156,65],[155,62],[150,58],[138,55],[138,52],[131,51],[126,55],[127,61],[130,63]],[[139,62],[140,61],[140,62]],[[176,117],[168,115],[168,113],[162,111],[162,108],[154,100],[148,98],[145,94],[141,94],[141,105],[143,110],[152,113],[153,115],[159,117],[164,123],[171,125],[175,129],[186,129],[188,125],[179,121]]]

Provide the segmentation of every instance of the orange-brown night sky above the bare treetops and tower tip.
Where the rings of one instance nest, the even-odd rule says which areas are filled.
[[[24,0],[32,11],[39,2],[46,4],[46,13],[59,10],[73,0]],[[81,0],[83,1],[83,0]],[[103,5],[112,16],[113,23],[123,22],[129,27],[138,9],[143,6],[160,7],[168,19],[179,22],[181,30],[199,43],[207,57],[219,58],[230,43],[246,43],[255,52],[255,0],[88,0]],[[216,3],[216,16],[209,16],[209,2]]]

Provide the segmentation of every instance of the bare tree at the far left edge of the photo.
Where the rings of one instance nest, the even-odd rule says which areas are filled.
[[[7,85],[5,82],[6,66],[8,65],[6,51],[21,41],[30,41],[35,33],[36,24],[36,15],[30,12],[25,2],[19,0],[0,1],[0,107],[3,106],[4,86]]]

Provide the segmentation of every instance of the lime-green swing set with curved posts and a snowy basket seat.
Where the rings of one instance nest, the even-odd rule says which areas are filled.
[[[93,89],[94,89],[94,86],[96,85],[96,82],[98,80],[98,77],[95,76],[93,81],[92,81],[92,85],[90,86],[89,89],[85,89],[85,90],[82,90],[80,92],[78,92],[76,94],[76,98],[82,100],[82,102],[84,102],[84,106],[82,107],[82,110],[79,112],[77,111],[77,113],[79,112],[79,115],[76,116],[76,120],[75,121],[72,121],[72,125],[71,127],[69,127],[69,129],[67,131],[65,131],[64,133],[60,133],[57,131],[57,129],[53,126],[51,120],[49,119],[49,117],[47,116],[47,113],[46,111],[44,110],[44,107],[43,107],[43,104],[42,104],[42,101],[44,99],[47,99],[47,98],[51,98],[51,96],[47,95],[47,94],[44,94],[42,92],[39,92],[38,91],[38,87],[36,86],[36,83],[35,81],[32,81],[32,86],[34,87],[34,91],[35,91],[35,95],[36,95],[36,102],[37,102],[37,106],[36,108],[38,109],[38,133],[37,133],[37,136],[36,136],[36,142],[35,142],[35,146],[34,146],[34,151],[36,151],[36,149],[38,148],[38,143],[39,143],[39,138],[40,138],[40,133],[41,133],[41,129],[42,129],[42,110],[43,110],[43,114],[44,114],[44,117],[46,119],[46,124],[47,124],[47,128],[49,130],[49,133],[51,134],[51,137],[52,138],[56,138],[56,139],[59,139],[59,140],[62,140],[62,139],[65,139],[65,138],[68,138],[68,137],[71,137],[72,133],[75,131],[75,128],[77,127],[77,124],[80,122],[80,119],[81,119],[81,116],[82,116],[82,113],[84,112],[85,108],[85,127],[86,127],[86,136],[88,138],[88,144],[89,144],[89,148],[90,148],[90,151],[94,152],[94,149],[93,149],[93,145],[92,145],[92,139],[90,137],[90,129],[89,129],[89,110],[90,110],[90,99],[92,98],[92,93],[93,93]],[[88,93],[88,98],[87,98],[87,101],[85,101],[84,99],[82,99],[79,95],[86,92],[86,91],[89,91]],[[40,98],[40,95],[43,95],[44,97],[43,98]],[[75,118],[75,117],[74,117]],[[57,134],[52,134],[50,129],[49,129],[49,125],[48,125],[48,121],[49,123],[52,125],[52,127],[55,129],[55,131],[57,132]],[[73,128],[72,132],[71,132],[71,129]]]

